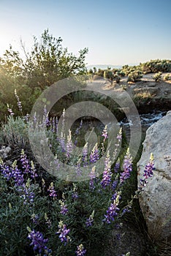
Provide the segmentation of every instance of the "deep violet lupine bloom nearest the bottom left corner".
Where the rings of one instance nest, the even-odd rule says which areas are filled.
[[[32,230],[28,234],[28,239],[31,240],[30,246],[34,246],[34,251],[42,253],[42,250],[47,249],[46,244],[48,239],[45,239],[42,233],[40,233],[39,231]]]

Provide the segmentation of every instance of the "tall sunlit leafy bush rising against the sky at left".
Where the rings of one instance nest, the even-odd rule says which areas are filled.
[[[34,37],[34,45],[30,53],[26,53],[26,60],[20,57],[10,46],[0,58],[0,67],[12,78],[31,89],[39,87],[45,89],[60,79],[68,78],[74,74],[86,73],[86,53],[88,48],[79,51],[76,57],[68,53],[67,48],[62,48],[61,37],[55,38],[45,29],[38,40]]]

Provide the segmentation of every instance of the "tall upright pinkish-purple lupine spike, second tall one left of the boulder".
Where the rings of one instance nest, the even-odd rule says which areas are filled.
[[[107,157],[104,160],[104,172],[102,176],[101,185],[103,188],[109,186],[112,177],[110,154],[107,152]]]

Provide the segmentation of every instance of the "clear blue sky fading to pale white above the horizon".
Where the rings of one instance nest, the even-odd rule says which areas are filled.
[[[171,59],[170,11],[171,0],[0,0],[0,56],[48,28],[72,53],[88,47],[88,64]]]

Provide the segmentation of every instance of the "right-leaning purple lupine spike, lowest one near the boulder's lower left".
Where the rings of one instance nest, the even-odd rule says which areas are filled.
[[[115,220],[115,217],[118,216],[117,211],[119,211],[118,203],[120,200],[120,193],[116,195],[115,200],[113,200],[113,203],[110,203],[110,207],[107,209],[106,214],[104,214],[104,222],[107,222],[107,224],[110,224],[110,222],[113,222]]]

